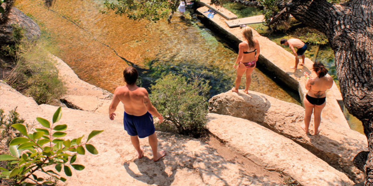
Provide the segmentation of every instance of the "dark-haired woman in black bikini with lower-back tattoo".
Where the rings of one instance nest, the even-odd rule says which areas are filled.
[[[316,73],[317,77],[311,77],[307,72],[304,73],[307,79],[305,89],[308,90],[308,93],[303,99],[305,115],[304,124],[301,125],[301,128],[306,133],[308,132],[313,112],[315,124],[314,135],[316,135],[320,133],[321,111],[326,105],[326,90],[332,88],[333,78],[330,76],[326,77],[327,69],[320,62],[315,62],[312,70]]]

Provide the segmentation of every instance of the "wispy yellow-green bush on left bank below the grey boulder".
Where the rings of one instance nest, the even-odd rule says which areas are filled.
[[[23,41],[17,44],[16,67],[4,79],[19,92],[31,96],[38,104],[53,104],[66,88],[58,78],[44,43]]]

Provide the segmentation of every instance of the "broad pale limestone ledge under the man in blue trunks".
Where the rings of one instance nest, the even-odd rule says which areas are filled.
[[[0,82],[0,108],[6,112],[17,107],[26,121],[43,117],[51,121],[56,106],[37,105],[4,82]],[[58,124],[68,125],[66,138],[76,138],[92,130],[104,130],[90,140],[99,154],[78,155],[77,164],[86,169],[72,171],[69,186],[91,185],[253,185],[276,186],[266,177],[250,177],[242,167],[225,160],[207,144],[190,137],[157,132],[159,148],[166,157],[154,163],[147,139],[141,139],[145,157],[138,159],[131,140],[117,121],[107,115],[63,108]],[[42,128],[35,122],[35,128]],[[53,169],[53,167],[52,167]],[[66,176],[65,176],[66,177]]]

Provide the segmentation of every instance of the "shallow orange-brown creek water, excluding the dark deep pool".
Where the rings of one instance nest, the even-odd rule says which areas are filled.
[[[42,38],[57,48],[53,54],[79,78],[110,92],[123,84],[122,71],[128,63],[122,58],[142,68],[148,68],[150,61],[156,66],[178,65],[179,70],[203,67],[191,71],[214,76],[211,86],[220,88],[212,95],[233,86],[235,51],[198,19],[182,20],[176,14],[171,24],[134,21],[112,12],[101,13],[103,1],[97,0],[56,1],[50,10],[41,1],[23,0],[16,1],[16,7],[38,23]],[[250,90],[300,104],[297,93],[280,87],[258,69],[252,75]]]

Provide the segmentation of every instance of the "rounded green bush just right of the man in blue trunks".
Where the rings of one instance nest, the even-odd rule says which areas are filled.
[[[200,137],[205,132],[207,93],[210,86],[201,78],[187,81],[181,75],[169,74],[151,87],[151,101],[183,135]]]

